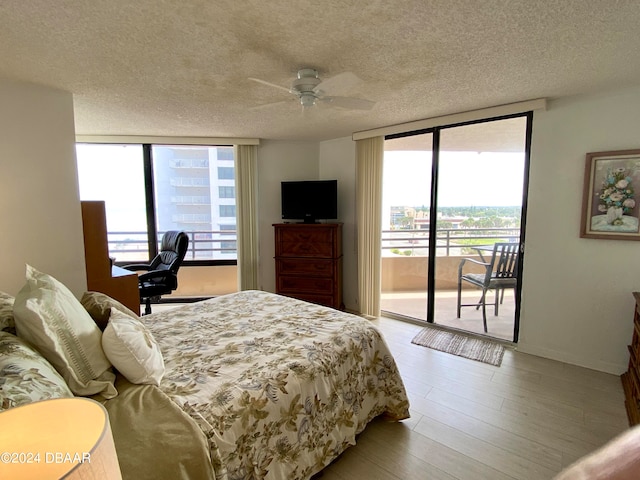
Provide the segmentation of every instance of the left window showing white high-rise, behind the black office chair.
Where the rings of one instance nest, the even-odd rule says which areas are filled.
[[[188,261],[236,261],[233,147],[78,144],[76,150],[80,199],[105,201],[109,254],[118,263],[148,261],[168,230],[189,235]]]

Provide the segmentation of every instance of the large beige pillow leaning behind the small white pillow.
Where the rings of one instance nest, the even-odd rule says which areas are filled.
[[[27,283],[13,305],[18,336],[58,370],[76,395],[115,397],[115,375],[101,333],[71,291],[27,265]]]

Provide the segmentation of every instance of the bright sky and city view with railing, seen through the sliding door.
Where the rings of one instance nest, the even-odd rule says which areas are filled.
[[[517,241],[524,156],[513,152],[441,152],[437,255]],[[385,151],[383,256],[428,254],[431,152]]]

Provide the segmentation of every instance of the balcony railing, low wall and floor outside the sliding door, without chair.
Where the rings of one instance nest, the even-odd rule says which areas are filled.
[[[481,260],[473,247],[516,242],[518,228],[441,229],[437,231],[435,267],[435,323],[484,334],[482,311],[464,307],[457,318],[458,266],[464,257]],[[429,232],[427,230],[386,230],[382,233],[381,307],[399,317],[426,322]],[[477,270],[480,273],[481,270]],[[475,303],[480,291],[463,285],[462,303]],[[493,292],[489,293],[493,301]],[[513,291],[505,291],[499,315],[487,307],[488,335],[512,341],[515,319]]]

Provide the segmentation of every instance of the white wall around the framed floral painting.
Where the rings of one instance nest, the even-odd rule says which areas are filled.
[[[582,239],[580,216],[585,154],[640,149],[639,107],[635,88],[552,101],[534,114],[522,351],[626,370],[640,242]]]

